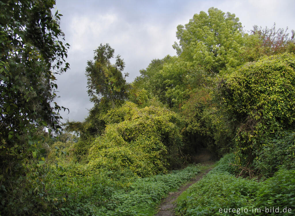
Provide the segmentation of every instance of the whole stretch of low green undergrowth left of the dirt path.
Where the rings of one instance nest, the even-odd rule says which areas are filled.
[[[78,164],[39,169],[42,178],[33,182],[32,189],[43,188],[42,192],[27,194],[32,199],[27,200],[27,207],[21,212],[13,206],[6,206],[6,212],[12,215],[152,215],[168,192],[176,190],[201,170],[191,165],[169,174],[138,178],[128,170],[95,173],[83,170]],[[36,196],[39,198],[35,199]]]

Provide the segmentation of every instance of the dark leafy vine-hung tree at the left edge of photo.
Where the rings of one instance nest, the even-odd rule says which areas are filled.
[[[61,128],[58,112],[66,108],[51,103],[56,96],[55,75],[69,68],[65,63],[69,45],[63,43],[61,14],[51,12],[55,0],[0,4],[0,209],[6,206],[4,213],[14,204],[11,197],[21,196],[17,187],[26,181],[25,163],[42,158],[37,128]]]

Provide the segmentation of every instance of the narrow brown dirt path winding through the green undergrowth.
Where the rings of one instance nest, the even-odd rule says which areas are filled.
[[[196,177],[194,177],[189,183],[187,183],[185,186],[182,186],[181,188],[178,189],[176,192],[171,192],[169,193],[169,196],[166,197],[158,207],[159,212],[155,216],[174,216],[175,211],[174,208],[176,207],[176,199],[177,197],[182,194],[183,191],[186,191],[186,189],[189,188],[192,184],[196,183],[199,181],[203,176],[205,176],[211,169],[212,165],[214,164],[214,161],[205,161],[201,163],[202,166],[209,166],[206,170],[198,174]]]

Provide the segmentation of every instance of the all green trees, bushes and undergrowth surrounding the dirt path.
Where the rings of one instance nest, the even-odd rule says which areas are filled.
[[[200,171],[186,165],[201,148],[226,156],[178,199],[179,215],[294,214],[294,31],[247,34],[210,8],[177,27],[177,56],[132,83],[101,44],[85,70],[94,107],[61,130],[55,76],[69,45],[55,1],[0,2],[1,215],[152,215]]]

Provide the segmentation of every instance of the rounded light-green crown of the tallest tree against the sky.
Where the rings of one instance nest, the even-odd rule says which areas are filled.
[[[208,14],[201,11],[185,26],[178,25],[176,36],[178,55],[211,73],[242,64],[242,25],[235,14],[209,8]]]

